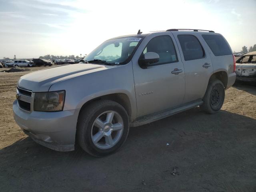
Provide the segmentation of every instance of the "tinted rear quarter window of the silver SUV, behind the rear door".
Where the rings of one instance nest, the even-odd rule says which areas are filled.
[[[215,56],[231,55],[232,52],[220,35],[202,35]]]

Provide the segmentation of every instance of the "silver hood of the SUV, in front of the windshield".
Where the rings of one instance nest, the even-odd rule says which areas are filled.
[[[105,70],[113,66],[98,64],[73,64],[51,67],[26,74],[18,81],[18,87],[32,92],[47,92],[52,84],[76,76]]]

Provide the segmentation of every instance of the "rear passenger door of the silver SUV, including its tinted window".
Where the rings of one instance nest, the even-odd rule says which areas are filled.
[[[172,32],[184,63],[186,92],[184,103],[202,99],[206,92],[210,76],[213,74],[209,49],[198,32]]]

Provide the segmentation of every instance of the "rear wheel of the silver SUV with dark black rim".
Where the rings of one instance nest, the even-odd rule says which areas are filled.
[[[201,108],[208,114],[217,113],[222,108],[224,99],[225,89],[223,83],[218,79],[211,80],[207,86],[203,98],[204,103]]]

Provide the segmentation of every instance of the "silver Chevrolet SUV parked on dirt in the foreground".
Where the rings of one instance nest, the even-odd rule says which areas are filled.
[[[103,42],[79,64],[20,78],[14,118],[43,146],[93,156],[124,144],[140,126],[200,106],[220,110],[236,79],[224,37],[213,31],[170,29]]]

